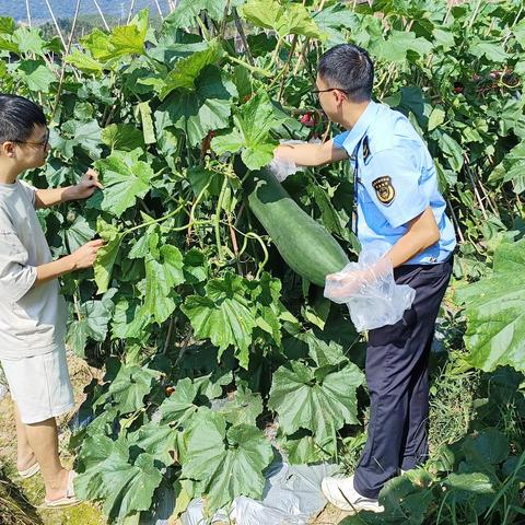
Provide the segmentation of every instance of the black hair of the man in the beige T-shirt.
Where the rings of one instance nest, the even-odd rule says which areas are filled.
[[[0,144],[9,140],[25,141],[35,126],[46,126],[42,107],[18,95],[0,94]]]

